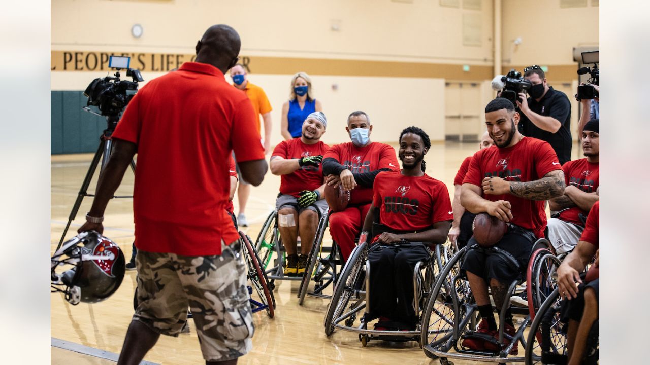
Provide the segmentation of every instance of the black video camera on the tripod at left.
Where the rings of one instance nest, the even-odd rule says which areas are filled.
[[[127,91],[138,90],[138,81],[144,81],[139,70],[129,68],[129,62],[131,57],[110,56],[109,68],[117,69],[115,76],[98,77],[83,92],[88,97],[88,105],[98,107],[102,116],[118,116],[135,94]],[[126,75],[133,81],[120,80],[120,69],[123,68],[127,69]]]

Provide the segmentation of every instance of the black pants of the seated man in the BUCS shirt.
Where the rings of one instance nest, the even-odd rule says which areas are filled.
[[[370,318],[386,317],[406,325],[418,323],[413,308],[413,270],[428,262],[429,250],[421,242],[370,247]]]

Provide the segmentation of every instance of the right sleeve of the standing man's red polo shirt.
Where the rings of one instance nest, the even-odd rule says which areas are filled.
[[[137,94],[136,94],[137,95]],[[239,162],[263,160],[264,146],[257,129],[257,118],[250,99],[242,99],[235,107],[230,140]]]

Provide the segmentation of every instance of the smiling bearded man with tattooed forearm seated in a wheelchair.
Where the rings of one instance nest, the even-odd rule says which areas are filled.
[[[528,264],[532,245],[544,236],[544,201],[562,195],[564,172],[551,145],[519,132],[519,113],[508,99],[497,97],[490,101],[485,113],[487,131],[497,148],[482,149],[474,154],[463,180],[460,202],[469,212],[487,212],[508,222],[509,227],[493,246],[499,250],[485,249],[471,238],[461,268],[467,272],[482,317],[476,332],[498,340],[487,285],[500,310],[508,300],[508,286]],[[510,308],[506,311],[505,330],[510,336],[515,334]],[[507,338],[504,342],[510,343]],[[498,349],[491,342],[478,338],[464,338],[462,346],[475,350]],[[517,352],[515,344],[511,354]]]

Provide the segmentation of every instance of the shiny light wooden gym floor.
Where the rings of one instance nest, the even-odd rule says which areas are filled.
[[[393,144],[395,147],[396,144]],[[434,144],[426,155],[428,175],[447,184],[453,197],[453,179],[463,158],[471,155],[478,143]],[[578,154],[578,151],[580,153]],[[573,158],[582,157],[581,148],[573,146]],[[65,227],[70,210],[85,177],[92,154],[54,155],[51,157],[51,252],[55,251]],[[99,171],[88,188],[92,194]],[[273,210],[279,189],[279,177],[266,174],[259,187],[253,187],[246,208],[250,227],[240,227],[253,240],[261,224]],[[116,195],[130,195],[133,192],[133,173],[127,171]],[[164,197],[161,197],[164,199]],[[66,238],[74,236],[85,220],[92,197],[83,200]],[[105,236],[116,242],[127,258],[131,257],[133,242],[133,210],[131,199],[113,199],[105,213]],[[235,212],[237,212],[235,197]],[[326,242],[330,242],[326,233]],[[86,346],[98,352],[119,354],[127,326],[133,315],[133,290],[135,271],[127,271],[120,289],[109,299],[88,305],[73,306],[62,294],[51,295],[51,336],[55,342],[66,342],[72,346]],[[424,356],[416,342],[389,344],[373,340],[368,347],[362,347],[354,333],[335,331],[331,338],[324,334],[323,321],[328,303],[325,299],[307,297],[304,306],[298,305],[296,297],[298,281],[276,281],[274,295],[277,301],[276,316],[269,319],[265,312],[253,314],[255,336],[252,351],[241,357],[239,364],[437,364]],[[161,336],[159,342],[144,360],[154,364],[204,364],[190,321],[191,332],[177,338]],[[51,347],[52,364],[114,364],[114,361],[81,353]],[[110,359],[110,356],[107,356]],[[116,357],[114,358],[116,359]],[[454,360],[457,365],[469,364]]]

